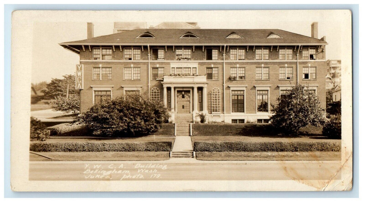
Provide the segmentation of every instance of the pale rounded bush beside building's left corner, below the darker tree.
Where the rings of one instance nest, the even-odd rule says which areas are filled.
[[[56,111],[78,114],[80,113],[80,95],[70,94],[68,98],[58,96],[51,100],[51,107]]]

